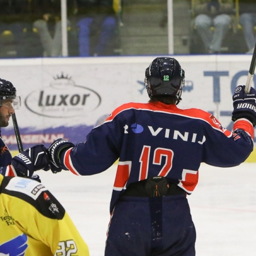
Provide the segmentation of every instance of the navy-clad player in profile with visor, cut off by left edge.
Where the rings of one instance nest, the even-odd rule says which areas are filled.
[[[20,104],[19,100],[13,84],[5,79],[0,79],[0,127],[9,125],[15,106]],[[0,174],[4,176],[30,177],[40,181],[39,176],[33,176],[33,174],[34,171],[43,168],[49,170],[46,147],[36,145],[12,158],[9,148],[2,139],[0,130]]]

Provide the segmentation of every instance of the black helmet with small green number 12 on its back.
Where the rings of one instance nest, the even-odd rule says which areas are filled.
[[[185,72],[176,59],[158,57],[146,69],[144,82],[150,98],[159,95],[174,96],[178,104],[185,83]]]

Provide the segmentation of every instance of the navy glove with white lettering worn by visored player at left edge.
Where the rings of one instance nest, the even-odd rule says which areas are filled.
[[[47,148],[42,144],[30,147],[15,155],[11,163],[15,168],[16,175],[20,177],[31,178],[34,171],[41,169],[48,171],[51,168]]]

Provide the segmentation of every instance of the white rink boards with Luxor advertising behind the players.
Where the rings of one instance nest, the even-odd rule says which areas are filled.
[[[163,56],[1,59],[0,77],[13,82],[22,98],[16,117],[23,147],[48,146],[60,137],[85,141],[117,106],[147,102],[144,72],[155,57]],[[232,130],[233,91],[245,84],[251,55],[169,57],[185,71],[179,108],[204,109]],[[16,150],[13,127],[2,129],[2,135]]]

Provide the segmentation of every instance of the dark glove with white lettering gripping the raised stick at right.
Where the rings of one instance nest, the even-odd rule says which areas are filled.
[[[251,87],[250,93],[245,93],[245,85],[237,86],[233,95],[234,110],[232,121],[246,118],[253,126],[256,124],[256,90]]]

